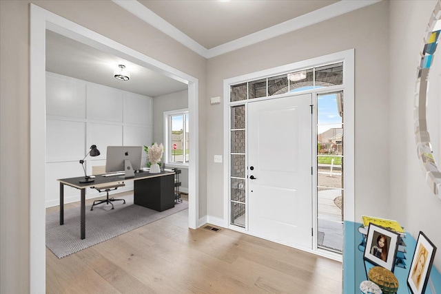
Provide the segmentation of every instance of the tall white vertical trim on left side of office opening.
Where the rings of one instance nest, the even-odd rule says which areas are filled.
[[[30,5],[30,293],[45,293],[45,17]]]

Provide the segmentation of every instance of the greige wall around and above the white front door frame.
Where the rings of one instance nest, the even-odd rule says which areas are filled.
[[[290,32],[207,61],[207,97],[223,79],[355,48],[355,212],[389,216],[389,3]],[[222,105],[207,105],[208,215],[223,219]],[[387,142],[387,143],[385,143]],[[225,158],[225,154],[224,154]],[[226,157],[227,158],[227,157]],[[381,203],[381,204],[379,204]]]

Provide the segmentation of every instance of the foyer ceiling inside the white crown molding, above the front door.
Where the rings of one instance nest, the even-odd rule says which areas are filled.
[[[264,30],[289,19],[295,19],[302,14],[313,12],[336,2],[338,1],[139,0],[143,6],[207,49]]]

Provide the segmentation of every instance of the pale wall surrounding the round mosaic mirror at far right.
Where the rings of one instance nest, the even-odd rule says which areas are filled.
[[[431,193],[425,182],[413,133],[413,94],[417,65],[423,48],[422,38],[436,1],[390,3],[391,218],[399,220],[415,238],[419,231],[427,235],[438,247],[434,264],[440,270],[441,200]],[[440,55],[438,47],[435,59]]]

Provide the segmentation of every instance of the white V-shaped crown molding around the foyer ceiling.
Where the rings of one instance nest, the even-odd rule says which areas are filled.
[[[194,41],[192,38],[175,28],[173,25],[167,23],[167,21],[152,12],[152,10],[143,6],[141,3],[139,3],[139,1],[112,1],[114,1],[114,3],[118,4],[128,12],[134,14],[136,17],[139,17],[146,23],[149,23],[154,28],[157,28],[164,34],[171,36],[173,39],[185,45],[185,47],[189,48],[190,50],[205,57],[206,59],[210,59],[221,54],[232,52],[234,50],[238,50],[240,48],[244,48],[246,46],[274,38],[275,36],[280,36],[281,34],[287,34],[288,32],[293,32],[295,30],[305,28],[309,25],[314,25],[316,23],[338,17],[353,10],[370,6],[372,4],[380,2],[381,0],[338,1],[329,6],[325,6],[307,14],[300,15],[300,17],[296,17],[295,19],[290,19],[289,21],[273,25],[270,28],[254,32],[253,34],[243,36],[242,38],[227,42],[222,45],[218,45],[210,49],[204,48],[201,44]]]

